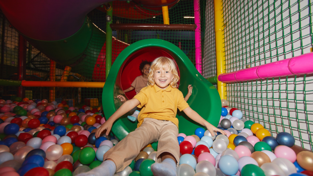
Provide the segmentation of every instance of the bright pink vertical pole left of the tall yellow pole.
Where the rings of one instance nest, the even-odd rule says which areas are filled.
[[[193,1],[194,19],[197,28],[195,30],[195,45],[196,45],[196,69],[202,75],[202,63],[201,63],[201,21],[200,21],[200,8],[199,0]]]

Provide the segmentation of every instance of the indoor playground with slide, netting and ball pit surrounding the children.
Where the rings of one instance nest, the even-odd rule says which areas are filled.
[[[177,176],[313,176],[310,0],[0,0],[0,175],[74,176],[136,122],[95,132],[142,60],[173,59],[212,136],[177,112]],[[120,176],[153,176],[157,142]]]

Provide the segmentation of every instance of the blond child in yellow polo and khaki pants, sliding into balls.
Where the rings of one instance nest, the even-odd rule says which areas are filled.
[[[137,106],[142,110],[136,130],[108,150],[103,156],[105,161],[100,166],[78,176],[113,176],[115,172],[123,171],[143,147],[156,141],[158,141],[157,163],[152,164],[152,173],[154,176],[176,176],[180,153],[177,141],[177,108],[184,111],[193,121],[207,127],[212,136],[214,132],[225,135],[225,132],[214,127],[189,107],[182,92],[177,89],[178,80],[175,62],[167,57],[156,58],[151,64],[148,86],[115,111],[97,129],[95,137],[100,137],[103,131],[109,135],[115,120]]]

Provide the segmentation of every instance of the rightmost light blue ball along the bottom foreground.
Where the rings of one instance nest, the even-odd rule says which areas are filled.
[[[235,175],[239,170],[238,161],[230,155],[222,156],[218,161],[218,167],[225,175]]]

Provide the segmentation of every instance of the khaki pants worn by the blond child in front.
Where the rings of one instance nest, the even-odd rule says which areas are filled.
[[[179,164],[178,128],[171,121],[145,118],[135,131],[130,132],[117,145],[103,155],[103,160],[112,159],[116,164],[116,172],[124,170],[137,157],[146,145],[159,141],[156,162],[161,162],[161,154],[171,153]]]

